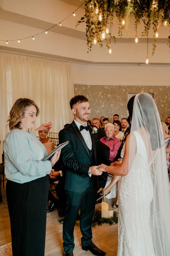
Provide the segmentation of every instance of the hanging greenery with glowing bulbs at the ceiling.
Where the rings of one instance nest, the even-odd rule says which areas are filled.
[[[77,26],[86,23],[86,37],[88,52],[94,44],[103,43],[111,48],[111,38],[116,42],[112,34],[114,20],[119,20],[118,35],[122,37],[122,30],[128,27],[130,15],[134,16],[134,29],[137,35],[137,26],[144,23],[142,38],[148,37],[149,30],[153,29],[153,52],[156,48],[156,40],[159,26],[170,27],[170,3],[169,0],[84,0],[85,15],[77,22]],[[170,47],[170,35],[167,40]],[[110,52],[111,53],[111,52]]]

